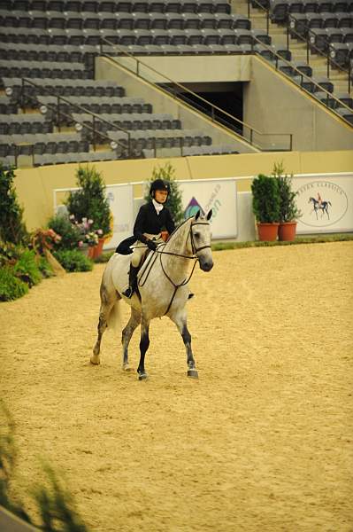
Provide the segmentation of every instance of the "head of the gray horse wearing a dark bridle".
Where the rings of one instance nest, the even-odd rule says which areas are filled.
[[[211,254],[211,228],[210,219],[212,210],[207,215],[202,216],[200,211],[191,220],[190,240],[193,254],[196,254],[200,268],[203,271],[210,271],[213,268]]]

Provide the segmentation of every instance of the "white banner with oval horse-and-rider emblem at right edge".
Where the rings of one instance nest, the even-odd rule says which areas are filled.
[[[298,234],[353,231],[353,173],[294,176],[292,184]]]

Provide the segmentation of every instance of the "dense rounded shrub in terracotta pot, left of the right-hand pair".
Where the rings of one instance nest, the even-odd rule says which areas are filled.
[[[277,239],[280,225],[280,192],[277,179],[259,174],[251,184],[252,210],[259,240]]]

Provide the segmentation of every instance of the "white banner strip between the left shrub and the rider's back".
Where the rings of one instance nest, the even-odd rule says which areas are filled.
[[[112,235],[105,240],[104,249],[111,249],[133,234],[134,189],[133,184],[108,184],[105,192],[111,208]]]

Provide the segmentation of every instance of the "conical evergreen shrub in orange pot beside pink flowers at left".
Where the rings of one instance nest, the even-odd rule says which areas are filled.
[[[78,191],[69,193],[65,205],[78,223],[89,220],[90,231],[100,234],[93,258],[102,253],[104,240],[111,234],[111,209],[105,196],[103,176],[96,168],[79,167],[76,173]]]

